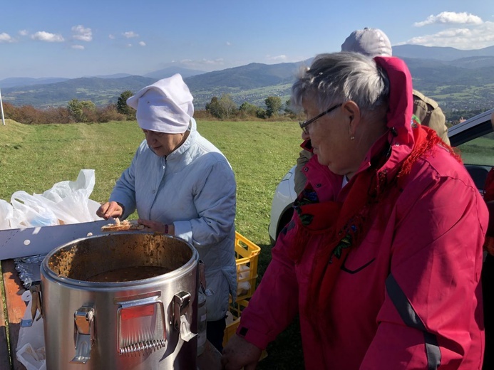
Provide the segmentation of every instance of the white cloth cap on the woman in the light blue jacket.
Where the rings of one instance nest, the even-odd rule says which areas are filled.
[[[135,117],[141,129],[181,134],[187,131],[194,115],[192,99],[189,88],[177,73],[139,90],[127,99],[127,105],[137,110]]]

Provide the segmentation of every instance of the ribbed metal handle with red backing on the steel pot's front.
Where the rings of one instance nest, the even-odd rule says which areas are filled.
[[[163,302],[158,297],[118,302],[118,354],[150,354],[166,345]]]

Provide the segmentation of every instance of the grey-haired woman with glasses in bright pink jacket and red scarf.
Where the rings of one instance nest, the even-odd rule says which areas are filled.
[[[411,125],[403,60],[316,56],[292,103],[307,184],[223,369],[254,369],[296,314],[306,369],[480,369],[487,208],[453,149]]]

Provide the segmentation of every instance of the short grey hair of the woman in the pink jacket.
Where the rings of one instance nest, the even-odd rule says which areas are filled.
[[[321,112],[353,100],[362,115],[388,104],[389,81],[376,62],[358,53],[319,54],[292,85],[292,105],[315,99]]]

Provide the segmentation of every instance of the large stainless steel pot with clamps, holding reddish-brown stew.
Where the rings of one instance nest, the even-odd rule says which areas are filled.
[[[41,264],[47,369],[195,369],[198,260],[180,238],[134,231],[51,251]],[[169,272],[89,281],[150,266]]]

